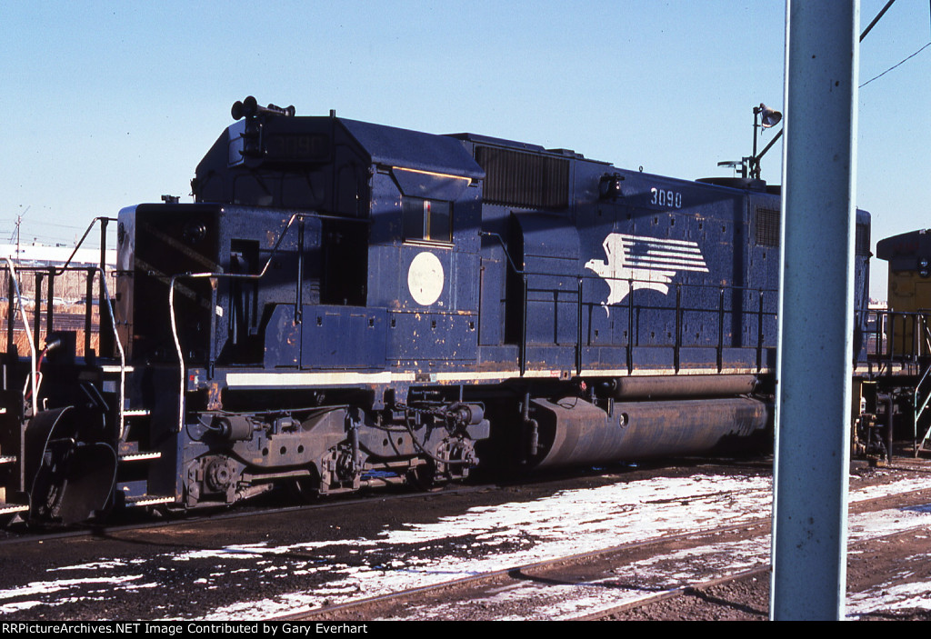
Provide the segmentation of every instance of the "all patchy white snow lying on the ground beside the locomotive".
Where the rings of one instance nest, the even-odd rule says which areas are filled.
[[[912,486],[911,481],[903,481],[885,486],[884,490],[893,494],[914,487],[917,486]],[[851,501],[877,497],[877,491],[856,490]],[[145,596],[144,592],[156,585],[152,582],[153,575],[170,572],[172,566],[205,559],[215,566],[205,578],[196,581],[205,590],[235,587],[231,579],[240,577],[240,583],[259,575],[263,579],[286,575],[313,578],[309,581],[314,585],[304,591],[240,602],[219,608],[205,618],[269,619],[631,541],[697,533],[722,525],[747,525],[770,514],[771,500],[771,482],[766,477],[695,476],[566,490],[546,499],[471,509],[431,524],[385,526],[375,539],[241,544],[131,562],[62,566],[55,570],[61,577],[0,591],[0,614],[40,604],[54,606],[74,597],[103,598],[112,596],[114,590],[122,590],[123,596]],[[686,504],[688,508],[682,508]],[[851,540],[877,537],[925,521],[931,523],[931,512],[924,509],[851,516],[850,536]],[[352,566],[336,559],[338,552],[344,557],[347,548],[358,560]],[[701,566],[694,574],[688,568],[690,562],[684,560],[694,560],[698,552],[702,554],[701,561],[691,563]],[[311,558],[307,559],[308,556]],[[637,562],[625,566],[612,579],[592,583],[554,586],[528,579],[518,587],[498,592],[483,607],[506,603],[508,606],[502,609],[513,610],[517,602],[521,609],[527,610],[521,619],[571,618],[694,583],[696,579],[710,579],[709,571],[724,576],[768,561],[768,537],[722,542],[682,551],[680,555]],[[70,579],[91,569],[95,573],[93,579]],[[99,581],[111,593],[88,593],[91,580]],[[886,588],[882,596],[876,592],[853,595],[851,614],[862,614],[866,606],[869,609],[918,606],[915,600],[924,591],[931,591],[931,585],[902,592]],[[881,605],[880,601],[893,603]],[[166,612],[169,616],[178,614],[174,610]],[[411,614],[412,619],[451,619],[455,618],[453,613],[461,612],[461,608],[445,610],[430,606],[412,610]],[[509,614],[502,612],[500,619],[509,619]]]

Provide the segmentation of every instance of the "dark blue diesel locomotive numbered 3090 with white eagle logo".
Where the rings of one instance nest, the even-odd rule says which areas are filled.
[[[98,348],[49,330],[4,354],[3,512],[430,486],[766,433],[779,196],[761,180],[251,98],[233,115],[193,204],[120,211]],[[858,308],[869,233],[859,211]]]

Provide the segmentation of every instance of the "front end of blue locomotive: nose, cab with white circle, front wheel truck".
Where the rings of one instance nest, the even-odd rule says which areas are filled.
[[[183,380],[153,427],[176,500],[466,476],[481,403],[405,382],[475,364],[482,175],[454,140],[260,113],[196,204],[121,212],[120,337],[161,384],[135,401]]]

